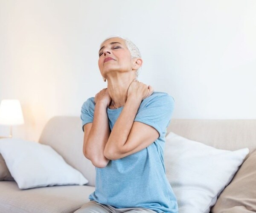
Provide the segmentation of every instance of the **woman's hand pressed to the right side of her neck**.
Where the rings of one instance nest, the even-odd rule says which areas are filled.
[[[134,95],[135,97],[140,98],[142,101],[145,98],[148,98],[153,92],[154,89],[152,86],[146,85],[134,79],[134,81],[132,81],[128,87],[127,98]]]

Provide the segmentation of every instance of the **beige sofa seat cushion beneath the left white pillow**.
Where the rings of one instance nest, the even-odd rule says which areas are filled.
[[[95,190],[86,185],[20,190],[15,181],[0,181],[0,210],[8,213],[73,213]]]

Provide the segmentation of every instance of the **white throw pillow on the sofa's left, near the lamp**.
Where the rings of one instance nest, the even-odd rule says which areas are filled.
[[[0,140],[0,153],[20,189],[88,183],[49,145],[6,138]]]

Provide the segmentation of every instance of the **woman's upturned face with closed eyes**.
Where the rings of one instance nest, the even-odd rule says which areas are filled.
[[[130,72],[134,60],[122,38],[113,37],[102,43],[99,50],[99,70],[103,77],[113,71]]]

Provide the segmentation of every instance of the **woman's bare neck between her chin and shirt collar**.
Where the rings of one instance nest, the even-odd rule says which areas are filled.
[[[125,106],[127,100],[127,91],[131,82],[136,75],[131,73],[116,73],[116,75],[108,76],[108,94],[111,97],[110,109],[117,109]]]

